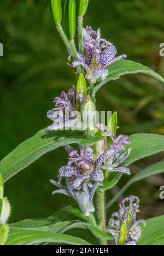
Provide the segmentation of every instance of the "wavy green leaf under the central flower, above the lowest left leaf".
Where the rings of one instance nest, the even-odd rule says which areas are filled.
[[[49,233],[64,233],[69,229],[88,229],[97,238],[104,238],[106,240],[113,240],[113,236],[109,233],[103,232],[96,226],[96,221],[91,215],[89,218],[84,216],[77,205],[66,207],[45,219],[27,219],[10,224],[12,232],[32,231],[32,232],[49,232]],[[31,236],[31,233],[29,233]],[[28,238],[28,236],[27,236]],[[13,239],[13,238],[12,238]],[[10,240],[9,240],[10,241]],[[43,242],[43,241],[42,241]],[[44,241],[49,242],[49,241]],[[9,242],[8,242],[9,243]],[[33,241],[33,243],[40,243]]]

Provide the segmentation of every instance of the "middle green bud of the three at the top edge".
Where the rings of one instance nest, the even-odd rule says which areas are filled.
[[[73,40],[76,27],[76,5],[74,0],[66,0],[64,6],[64,30],[69,40]]]

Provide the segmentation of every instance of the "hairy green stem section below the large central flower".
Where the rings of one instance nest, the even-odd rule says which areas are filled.
[[[101,231],[106,231],[104,191],[98,192],[98,204],[99,204],[99,224],[98,224],[98,227]],[[100,244],[106,245],[107,240],[106,239],[101,239]]]

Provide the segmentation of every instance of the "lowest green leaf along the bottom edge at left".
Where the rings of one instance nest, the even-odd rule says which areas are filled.
[[[45,242],[73,244],[73,245],[90,244],[85,240],[78,237],[74,237],[74,236],[69,236],[61,233],[19,229],[18,227],[10,227],[8,240],[5,244],[30,245],[30,244],[39,244],[39,243],[45,243]]]

